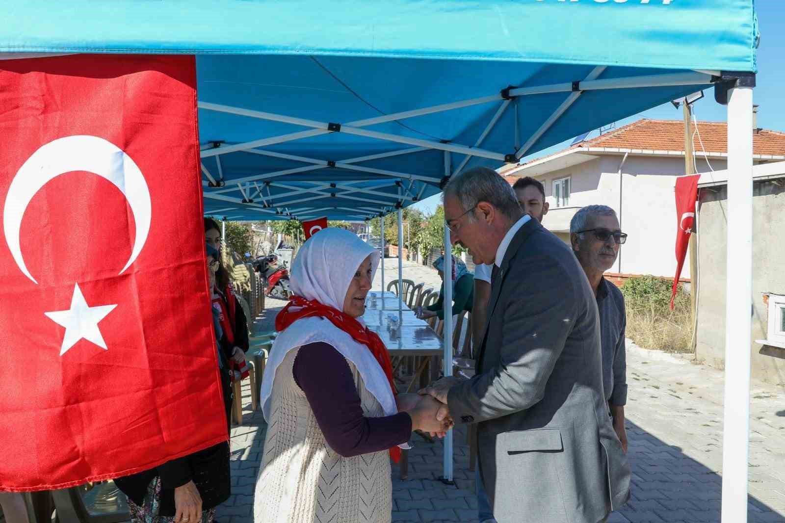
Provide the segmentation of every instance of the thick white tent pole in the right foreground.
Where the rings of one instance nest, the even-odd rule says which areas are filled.
[[[752,87],[728,91],[722,521],[746,523],[752,309]]]

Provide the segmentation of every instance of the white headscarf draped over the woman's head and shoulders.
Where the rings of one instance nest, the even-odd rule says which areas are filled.
[[[349,284],[360,264],[371,255],[371,279],[379,265],[379,252],[344,229],[322,229],[305,242],[294,258],[291,269],[292,292],[307,300],[343,310]],[[357,319],[362,323],[360,318]],[[330,320],[307,317],[297,320],[281,332],[270,349],[270,357],[261,382],[261,411],[269,422],[270,396],[276,370],[291,349],[309,343],[325,342],[334,346],[355,365],[365,388],[373,394],[385,415],[397,413],[395,397],[389,380],[371,350],[354,339]]]

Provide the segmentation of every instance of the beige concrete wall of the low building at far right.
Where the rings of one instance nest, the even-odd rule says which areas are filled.
[[[780,183],[783,179],[779,180]],[[725,368],[725,259],[727,248],[727,186],[700,189],[698,216],[698,334],[696,356]],[[756,339],[768,331],[768,306],[762,293],[785,294],[785,188],[761,181],[754,184],[752,375],[785,385],[785,360],[760,354]],[[739,347],[740,350],[747,349]]]

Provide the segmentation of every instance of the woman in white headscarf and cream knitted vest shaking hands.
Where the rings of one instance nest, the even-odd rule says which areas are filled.
[[[387,523],[389,459],[412,430],[442,432],[440,404],[396,395],[389,354],[360,316],[379,263],[352,232],[323,229],[295,258],[261,390],[268,422],[257,523]]]

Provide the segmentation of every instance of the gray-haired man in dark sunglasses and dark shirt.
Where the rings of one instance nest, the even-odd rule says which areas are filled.
[[[626,313],[624,297],[619,287],[605,280],[603,274],[619,256],[619,248],[627,235],[619,228],[619,219],[611,207],[590,205],[583,207],[570,222],[572,251],[597,298],[600,313],[602,346],[602,382],[605,400],[613,416],[613,429],[627,452],[627,433],[624,429],[624,405],[627,402],[627,365],[624,334]]]

